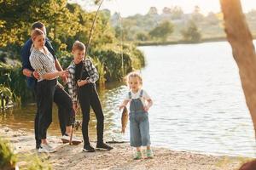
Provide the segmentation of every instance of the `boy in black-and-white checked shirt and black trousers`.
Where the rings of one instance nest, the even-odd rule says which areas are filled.
[[[73,44],[73,63],[68,66],[67,77],[68,93],[73,100],[73,109],[78,108],[77,98],[83,113],[82,133],[84,138],[84,151],[94,152],[95,149],[90,145],[88,136],[88,123],[90,121],[90,106],[96,114],[97,144],[96,148],[112,150],[108,144],[103,143],[104,116],[102,105],[99,100],[95,82],[99,75],[96,67],[90,59],[84,59],[85,46],[83,42],[76,41]],[[81,75],[82,73],[82,75]],[[81,76],[81,77],[80,77]]]

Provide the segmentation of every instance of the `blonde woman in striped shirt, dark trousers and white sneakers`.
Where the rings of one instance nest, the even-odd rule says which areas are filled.
[[[40,29],[32,31],[32,53],[30,63],[38,72],[37,104],[38,104],[38,137],[41,139],[41,147],[38,152],[55,152],[48,144],[46,133],[52,122],[52,104],[55,94],[57,77],[66,77],[66,71],[56,71],[55,59],[44,46],[45,35]]]

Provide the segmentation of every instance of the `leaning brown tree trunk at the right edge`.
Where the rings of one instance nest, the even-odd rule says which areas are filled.
[[[256,132],[256,55],[253,37],[242,13],[240,0],[220,0],[220,4],[224,14],[224,31],[239,69],[241,86]]]

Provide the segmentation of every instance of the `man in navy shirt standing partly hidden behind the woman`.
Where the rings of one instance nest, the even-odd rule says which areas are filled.
[[[32,30],[34,29],[40,29],[44,31],[44,34],[46,35],[46,28],[43,23],[41,22],[35,22],[32,25]],[[49,42],[49,39],[45,38],[45,46],[48,48],[49,52],[54,56],[55,58],[55,67],[57,71],[63,71],[62,67],[58,61],[58,59],[55,57],[55,51],[52,48],[51,43]],[[32,69],[32,65],[29,61],[29,56],[31,54],[31,48],[32,48],[32,39],[28,39],[21,48],[21,61],[22,61],[22,73],[26,76],[26,82],[28,88],[32,88],[33,91],[36,91],[37,86],[37,78],[38,73]],[[67,82],[67,77],[61,77],[63,82]],[[35,93],[36,94],[36,93]],[[57,83],[56,90],[54,94],[54,102],[58,107],[58,116],[60,121],[60,127],[61,127],[61,134],[62,134],[62,141],[64,143],[69,141],[69,135],[72,131],[72,117],[74,114],[73,111],[73,103],[70,99],[69,95],[65,92],[64,88],[61,86],[60,83]],[[35,139],[36,139],[36,148],[40,148],[41,140],[38,139],[38,111],[35,117]],[[73,144],[79,144],[82,141],[79,139],[76,139],[73,137]]]

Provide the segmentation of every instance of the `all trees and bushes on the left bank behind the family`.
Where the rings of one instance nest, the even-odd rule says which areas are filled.
[[[91,2],[98,4],[100,1],[91,0]],[[76,40],[84,44],[88,42],[95,14],[96,12],[84,11],[78,4],[67,3],[67,0],[0,1],[0,60],[2,61],[0,63],[0,84],[3,85],[2,91],[7,92],[9,89],[12,93],[9,95],[15,102],[21,99],[21,103],[26,103],[32,99],[32,90],[26,88],[26,80],[22,75],[20,63],[7,65],[5,60],[6,58],[20,60],[20,49],[30,37],[33,22],[39,20],[45,24],[56,55],[62,67],[66,69],[73,60],[73,55],[70,53],[73,42]],[[127,45],[124,49],[125,53],[120,52],[117,44],[122,41],[122,38],[115,37],[115,31],[109,22],[110,17],[108,10],[98,13],[88,51],[88,55],[95,59],[94,62],[100,74],[100,84],[119,80],[124,72],[141,68],[140,66],[144,65],[143,54],[135,47]],[[121,32],[124,37],[125,31]],[[124,58],[124,67],[120,66],[122,65],[121,56]]]

